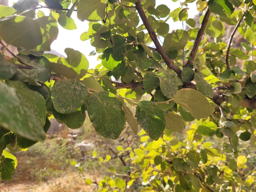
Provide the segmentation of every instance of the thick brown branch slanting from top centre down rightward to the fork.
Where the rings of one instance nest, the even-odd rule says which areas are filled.
[[[178,77],[181,77],[181,70],[180,68],[178,68],[176,65],[174,65],[174,63],[169,59],[169,57],[166,55],[163,47],[160,45],[159,41],[158,41],[158,36],[156,35],[155,31],[152,29],[149,20],[147,19],[145,12],[143,11],[142,8],[142,4],[140,2],[140,0],[138,0],[135,3],[135,8],[138,11],[139,16],[141,17],[143,24],[145,25],[147,31],[149,32],[150,38],[152,39],[152,41],[154,42],[155,46],[157,47],[157,51],[158,53],[162,56],[162,58],[164,59],[166,65],[172,69],[173,71],[175,71],[175,73],[178,75]]]

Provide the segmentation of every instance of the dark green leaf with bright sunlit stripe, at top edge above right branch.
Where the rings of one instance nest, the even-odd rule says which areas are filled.
[[[211,12],[223,17],[230,16],[235,10],[228,0],[209,0],[208,6]]]

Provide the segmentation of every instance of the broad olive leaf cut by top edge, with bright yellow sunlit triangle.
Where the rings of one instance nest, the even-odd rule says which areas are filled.
[[[100,21],[106,17],[106,4],[101,0],[81,0],[77,6],[77,17],[84,21]]]

